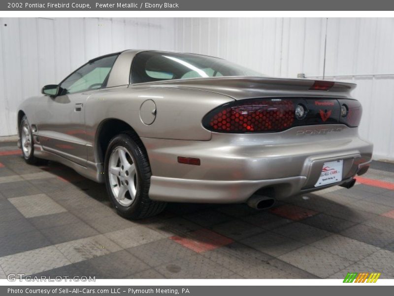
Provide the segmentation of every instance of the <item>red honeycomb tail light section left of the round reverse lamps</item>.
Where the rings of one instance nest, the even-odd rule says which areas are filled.
[[[280,132],[295,120],[295,106],[290,99],[250,99],[233,102],[209,112],[205,128],[215,132]]]

